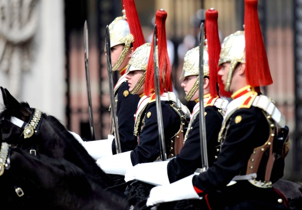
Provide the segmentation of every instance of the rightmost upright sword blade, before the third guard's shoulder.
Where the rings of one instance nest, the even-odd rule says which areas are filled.
[[[203,106],[203,45],[204,45],[204,25],[200,26],[200,42],[199,42],[199,135],[200,135],[200,150],[201,150],[201,172],[208,169],[206,134],[205,134],[205,118]]]

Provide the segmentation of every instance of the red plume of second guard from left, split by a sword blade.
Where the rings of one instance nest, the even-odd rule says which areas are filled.
[[[159,53],[159,72],[160,72],[160,90],[161,94],[168,91],[173,91],[171,81],[171,64],[167,50],[167,37],[166,37],[166,19],[167,12],[164,10],[158,10],[155,16],[155,24],[157,26],[158,33],[158,53]],[[154,81],[154,61],[153,61],[153,40],[151,44],[150,56],[147,65],[147,72],[145,78],[145,95],[149,95],[155,89]]]

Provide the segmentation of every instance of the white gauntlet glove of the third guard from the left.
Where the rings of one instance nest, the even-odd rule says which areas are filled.
[[[141,163],[127,169],[125,181],[133,179],[153,185],[170,184],[168,177],[169,161],[155,161],[152,163]]]

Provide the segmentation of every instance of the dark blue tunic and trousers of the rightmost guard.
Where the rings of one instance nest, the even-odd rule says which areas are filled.
[[[236,121],[236,117],[242,119]],[[263,111],[256,107],[234,112],[217,161],[206,172],[193,177],[193,185],[203,190],[204,205],[211,209],[286,209],[286,200],[274,188],[260,188],[247,180],[226,186],[235,175],[246,174],[254,148],[268,140],[270,127]],[[258,176],[259,175],[259,176]],[[257,172],[257,180],[264,180]],[[278,199],[282,199],[281,203]],[[279,200],[280,201],[280,200]]]

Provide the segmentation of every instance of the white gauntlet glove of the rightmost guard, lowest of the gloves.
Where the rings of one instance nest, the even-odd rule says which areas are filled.
[[[201,199],[196,193],[192,179],[195,174],[180,179],[172,184],[153,187],[147,199],[147,206],[162,202],[170,202],[183,199]]]

